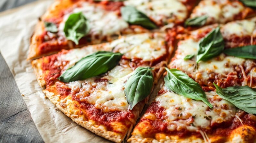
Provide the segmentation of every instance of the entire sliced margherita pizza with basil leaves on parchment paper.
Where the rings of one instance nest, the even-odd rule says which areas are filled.
[[[46,97],[110,141],[256,142],[255,7],[56,0],[28,59]]]

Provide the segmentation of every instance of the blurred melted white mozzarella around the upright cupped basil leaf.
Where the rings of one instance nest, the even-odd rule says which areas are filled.
[[[73,9],[70,13],[64,16],[64,20],[60,23],[60,34],[65,35],[63,32],[65,22],[69,15],[72,13],[82,12],[90,23],[89,34],[94,36],[107,36],[112,34],[118,34],[122,29],[127,28],[129,25],[121,17],[113,11],[105,11],[100,6],[83,2],[81,7]]]

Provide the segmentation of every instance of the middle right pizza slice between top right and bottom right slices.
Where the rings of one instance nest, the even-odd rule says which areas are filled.
[[[206,26],[181,38],[169,68],[185,72],[205,91],[213,83],[222,88],[256,86],[256,62],[250,56],[256,48],[256,18]]]

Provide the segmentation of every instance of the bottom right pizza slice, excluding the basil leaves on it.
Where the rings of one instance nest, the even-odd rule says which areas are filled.
[[[204,102],[181,96],[163,86],[128,142],[255,142],[255,115],[237,109],[216,91],[205,94],[212,109]]]

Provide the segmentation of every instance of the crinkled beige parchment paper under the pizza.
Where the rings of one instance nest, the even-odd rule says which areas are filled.
[[[0,51],[45,142],[109,142],[76,125],[44,97],[30,62],[29,40],[37,19],[53,0],[40,0],[0,13]],[[4,84],[4,83],[2,83]]]

